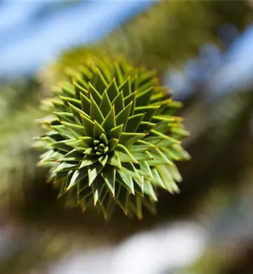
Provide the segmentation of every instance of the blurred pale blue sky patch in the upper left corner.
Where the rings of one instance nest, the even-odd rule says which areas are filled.
[[[0,77],[39,70],[60,51],[103,38],[149,1],[1,1]]]

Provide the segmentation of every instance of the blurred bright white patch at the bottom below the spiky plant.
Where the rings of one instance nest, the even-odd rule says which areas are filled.
[[[181,222],[138,233],[115,247],[66,256],[49,266],[48,273],[180,274],[199,259],[206,242],[205,230]]]

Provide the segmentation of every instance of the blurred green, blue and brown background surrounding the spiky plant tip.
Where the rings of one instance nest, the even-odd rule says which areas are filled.
[[[63,207],[39,102],[89,51],[154,68],[191,135],[142,221]],[[253,2],[0,1],[0,273],[253,273]]]

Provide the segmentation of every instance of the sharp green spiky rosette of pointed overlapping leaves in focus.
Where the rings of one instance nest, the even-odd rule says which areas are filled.
[[[155,211],[157,188],[178,193],[174,161],[188,159],[181,138],[188,133],[174,114],[181,103],[157,84],[155,72],[124,59],[93,58],[56,87],[44,102],[52,113],[38,144],[40,164],[70,204],[98,204],[109,218],[118,204],[142,218]]]

